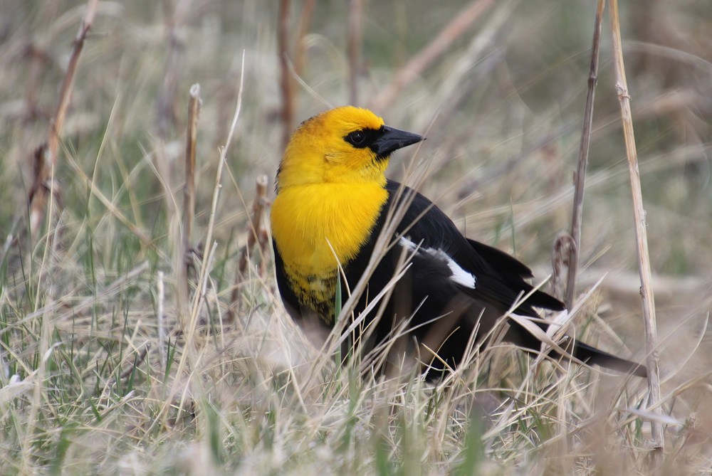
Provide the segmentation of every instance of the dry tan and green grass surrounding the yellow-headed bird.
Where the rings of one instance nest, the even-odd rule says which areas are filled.
[[[595,6],[442,3],[102,1],[56,166],[38,181],[87,2],[0,1],[1,474],[711,471],[706,0],[621,12],[659,325],[658,458],[641,379],[496,346],[450,385],[374,382],[357,362],[337,369],[286,316],[259,226],[271,187],[252,197],[273,179],[285,125],[325,103],[424,132],[390,174],[424,174],[422,191],[468,236],[550,273],[570,226]],[[607,14],[572,325],[642,361]],[[30,233],[38,186],[47,200]]]

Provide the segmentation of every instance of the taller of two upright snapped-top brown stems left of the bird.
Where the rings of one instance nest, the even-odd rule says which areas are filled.
[[[179,265],[179,295],[182,305],[187,304],[189,287],[188,273],[193,265],[191,237],[195,220],[195,144],[198,137],[200,111],[200,85],[194,84],[188,92],[188,130],[185,147],[185,183],[183,184],[183,246]]]

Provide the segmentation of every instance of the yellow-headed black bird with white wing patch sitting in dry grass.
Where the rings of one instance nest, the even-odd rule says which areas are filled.
[[[544,330],[548,324],[537,309],[563,311],[565,305],[534,290],[527,282],[531,270],[516,258],[466,238],[433,202],[386,178],[391,154],[423,139],[353,106],[305,120],[279,164],[270,219],[284,306],[295,322],[318,332],[335,325],[337,287],[345,300],[367,271],[379,234],[392,233],[355,307],[359,316],[388,291],[358,327],[367,337],[361,345],[374,349],[399,336],[402,345],[391,352],[419,356],[422,371],[437,376],[461,364],[471,342],[481,342],[523,295],[527,299],[512,313],[534,318]],[[398,207],[402,212],[394,215]],[[387,226],[389,216],[397,217],[394,227]],[[402,276],[393,285],[398,270]],[[508,325],[504,341],[532,352],[541,349],[540,339],[520,322],[509,319]],[[567,352],[587,364],[647,375],[634,361],[575,339],[567,345]],[[398,359],[402,355],[388,357]]]

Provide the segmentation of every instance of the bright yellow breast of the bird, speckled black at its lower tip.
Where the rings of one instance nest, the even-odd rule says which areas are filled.
[[[377,183],[305,184],[279,192],[272,236],[302,305],[333,308],[338,263],[355,258],[387,198]]]

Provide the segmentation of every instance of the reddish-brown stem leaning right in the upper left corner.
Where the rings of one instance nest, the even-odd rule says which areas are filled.
[[[69,63],[67,65],[67,72],[64,75],[62,81],[62,88],[59,92],[59,102],[57,104],[57,111],[54,115],[54,120],[50,122],[47,144],[46,148],[41,147],[37,152],[36,159],[38,164],[36,166],[35,181],[30,190],[29,200],[30,205],[30,233],[32,239],[34,240],[37,236],[40,223],[42,223],[42,218],[44,216],[44,208],[47,201],[47,193],[50,186],[48,185],[48,180],[53,175],[54,166],[57,164],[57,149],[59,147],[59,136],[62,133],[62,127],[64,125],[64,120],[67,116],[67,110],[69,109],[69,102],[72,97],[72,90],[74,87],[74,75],[77,70],[77,64],[79,63],[79,55],[84,47],[84,41],[86,39],[87,33],[94,23],[94,17],[96,14],[96,9],[99,4],[99,0],[89,0],[87,2],[87,9],[84,14],[84,18],[79,27],[79,32],[74,40],[74,46],[69,55]],[[56,184],[53,184],[54,193],[58,194],[58,188]]]

